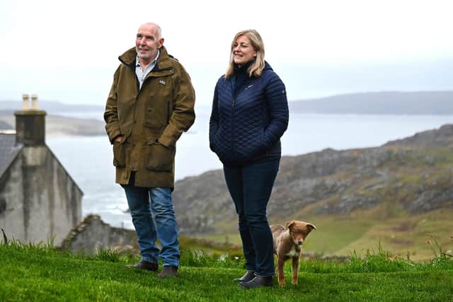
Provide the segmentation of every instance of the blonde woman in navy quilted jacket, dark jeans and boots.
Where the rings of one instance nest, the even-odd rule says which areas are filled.
[[[239,215],[246,274],[234,279],[250,289],[273,284],[273,238],[266,217],[287,129],[285,85],[264,60],[256,30],[243,30],[231,42],[229,67],[215,86],[210,148],[224,175]]]

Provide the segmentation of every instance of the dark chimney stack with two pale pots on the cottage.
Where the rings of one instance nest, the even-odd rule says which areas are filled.
[[[23,110],[16,115],[16,144],[40,146],[45,144],[45,111],[38,109],[38,95],[32,95],[32,108],[28,94],[22,95]]]

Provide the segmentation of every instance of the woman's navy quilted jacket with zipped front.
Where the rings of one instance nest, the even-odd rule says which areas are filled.
[[[226,165],[279,158],[289,118],[285,85],[268,62],[258,78],[235,80],[222,76],[215,86],[211,150]]]

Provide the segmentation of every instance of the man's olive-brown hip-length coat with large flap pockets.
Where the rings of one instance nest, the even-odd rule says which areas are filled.
[[[159,59],[139,88],[135,47],[122,54],[105,105],[105,130],[113,144],[116,182],[174,187],[176,141],[195,121],[195,91],[178,62],[160,48]],[[121,136],[120,142],[115,138]]]

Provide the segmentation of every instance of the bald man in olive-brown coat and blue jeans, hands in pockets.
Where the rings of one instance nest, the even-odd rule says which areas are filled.
[[[125,189],[142,254],[127,267],[156,271],[161,257],[158,277],[176,277],[180,253],[171,201],[176,141],[195,120],[195,92],[187,72],[163,44],[159,25],[140,26],[135,47],[119,57],[104,120],[116,182]]]

